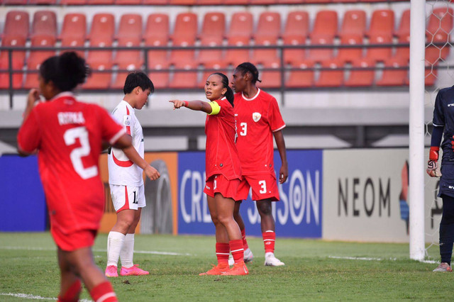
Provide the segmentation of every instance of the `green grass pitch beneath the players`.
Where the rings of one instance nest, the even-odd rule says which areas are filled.
[[[264,267],[261,238],[248,242],[254,253],[248,276],[198,276],[216,263],[214,237],[136,235],[134,262],[150,275],[111,282],[120,301],[452,299],[454,274],[433,273],[437,264],[410,260],[406,244],[278,238],[275,254],[285,267]],[[104,270],[106,235],[99,235],[94,250]],[[429,254],[438,259],[438,247]],[[0,233],[0,301],[52,301],[59,282],[49,233]],[[89,300],[87,291],[81,298]]]

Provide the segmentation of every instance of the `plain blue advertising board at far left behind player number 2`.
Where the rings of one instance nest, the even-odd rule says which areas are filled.
[[[47,210],[36,156],[0,157],[0,231],[43,231]]]

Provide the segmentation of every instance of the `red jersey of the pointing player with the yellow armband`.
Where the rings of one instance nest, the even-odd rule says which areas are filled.
[[[206,180],[215,174],[226,179],[240,179],[241,167],[235,145],[236,126],[233,108],[226,99],[216,101],[221,110],[216,115],[207,115],[205,121]]]

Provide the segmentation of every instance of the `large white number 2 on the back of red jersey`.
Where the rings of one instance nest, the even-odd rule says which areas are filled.
[[[85,127],[68,129],[65,131],[63,138],[65,139],[65,144],[67,146],[74,145],[76,139],[79,138],[80,147],[72,150],[70,154],[72,167],[74,167],[77,174],[79,174],[82,179],[89,179],[98,175],[98,167],[96,167],[96,165],[84,168],[84,164],[82,163],[82,157],[90,154],[87,129]]]

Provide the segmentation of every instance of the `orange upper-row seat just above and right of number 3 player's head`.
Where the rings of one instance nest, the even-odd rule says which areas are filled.
[[[255,45],[277,45],[277,39],[281,35],[281,16],[275,12],[260,14],[257,30],[254,33]],[[261,64],[280,62],[277,50],[257,49],[253,50],[251,60]]]

